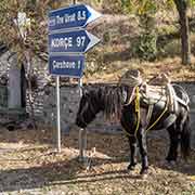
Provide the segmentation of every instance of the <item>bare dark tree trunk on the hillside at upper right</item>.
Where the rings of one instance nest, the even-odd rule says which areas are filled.
[[[187,4],[185,0],[174,0],[180,20],[180,34],[182,44],[182,64],[191,64],[191,41],[187,17]]]

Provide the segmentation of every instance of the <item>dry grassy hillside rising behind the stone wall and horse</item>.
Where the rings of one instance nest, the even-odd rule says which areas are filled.
[[[192,64],[181,64],[181,43],[176,13],[160,14],[157,17],[157,58],[147,62],[134,55],[134,42],[140,31],[134,15],[108,15],[88,27],[101,43],[87,54],[86,82],[117,81],[129,68],[139,68],[145,78],[158,73],[168,73],[174,81],[194,81],[195,79],[195,34],[194,21],[191,22]]]

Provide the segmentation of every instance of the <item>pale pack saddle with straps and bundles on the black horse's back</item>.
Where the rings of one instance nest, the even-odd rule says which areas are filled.
[[[160,74],[152,78],[148,82],[143,82],[140,72],[138,69],[128,70],[119,80],[119,86],[122,87],[122,95],[125,91],[123,105],[129,105],[135,100],[135,112],[140,110],[136,105],[143,102],[148,106],[145,127],[148,126],[154,107],[162,108],[161,115],[156,119],[158,121],[160,117],[169,110],[169,116],[164,120],[165,127],[168,127],[177,118],[179,110],[179,103],[188,107],[188,96],[185,93],[185,99],[179,94],[180,90],[177,90],[177,86],[171,83],[170,78],[166,74]],[[178,88],[181,89],[180,86]],[[138,92],[139,91],[139,92]],[[182,90],[184,92],[184,90]],[[156,122],[155,121],[155,122]],[[154,122],[154,123],[155,123]],[[153,123],[153,125],[154,125]],[[153,125],[147,128],[150,130]]]

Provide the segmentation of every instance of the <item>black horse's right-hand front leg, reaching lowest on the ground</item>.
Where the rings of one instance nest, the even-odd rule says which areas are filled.
[[[147,160],[146,134],[143,128],[140,128],[138,131],[138,142],[142,158],[142,169],[140,173],[145,174],[147,173],[147,169],[148,169],[148,160]]]

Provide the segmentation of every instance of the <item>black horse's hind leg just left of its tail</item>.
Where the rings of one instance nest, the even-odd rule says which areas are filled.
[[[178,157],[178,145],[179,145],[179,139],[180,139],[180,127],[177,126],[177,122],[171,125],[169,128],[167,128],[169,132],[169,139],[170,139],[170,146],[169,146],[169,152],[167,156],[167,160],[170,161],[176,161]]]

